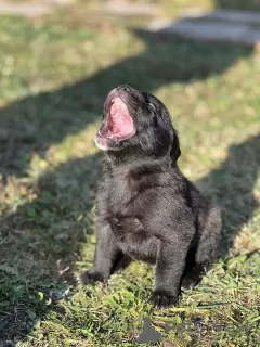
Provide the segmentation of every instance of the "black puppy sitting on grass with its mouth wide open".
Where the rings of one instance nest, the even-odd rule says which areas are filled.
[[[177,131],[165,105],[129,86],[114,89],[95,137],[105,152],[96,196],[94,267],[80,281],[106,281],[132,259],[156,264],[155,307],[178,303],[214,259],[219,210],[182,175]]]

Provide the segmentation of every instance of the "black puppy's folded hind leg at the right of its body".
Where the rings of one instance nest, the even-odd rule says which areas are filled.
[[[204,223],[204,229],[195,249],[194,265],[182,280],[182,290],[193,288],[217,259],[217,248],[221,232],[221,217],[217,207],[212,207]]]

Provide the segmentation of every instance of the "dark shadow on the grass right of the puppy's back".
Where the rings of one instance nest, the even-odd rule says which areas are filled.
[[[220,255],[226,257],[235,237],[252,217],[259,202],[253,188],[260,168],[260,134],[234,144],[219,168],[196,182],[222,211]]]

